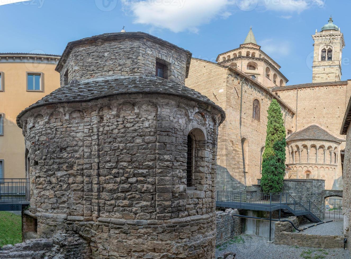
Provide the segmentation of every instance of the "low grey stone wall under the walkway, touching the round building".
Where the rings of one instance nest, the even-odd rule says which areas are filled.
[[[242,218],[232,216],[240,214],[239,210],[226,209],[216,212],[216,246],[223,245],[225,242],[243,233]]]

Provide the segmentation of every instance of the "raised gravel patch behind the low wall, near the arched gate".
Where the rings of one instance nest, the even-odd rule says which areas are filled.
[[[311,226],[313,223],[307,223],[299,226],[299,229],[302,227]],[[343,236],[343,221],[333,221],[318,226],[311,227],[300,233],[311,234],[311,235],[321,235],[321,236]]]

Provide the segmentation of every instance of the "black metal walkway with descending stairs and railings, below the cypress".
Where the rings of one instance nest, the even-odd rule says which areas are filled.
[[[287,192],[217,191],[216,206],[270,212],[282,210],[294,216],[303,216],[313,223],[324,220],[324,212],[311,200],[296,200]]]

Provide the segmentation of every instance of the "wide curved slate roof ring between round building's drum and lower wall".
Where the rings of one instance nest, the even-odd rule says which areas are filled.
[[[160,77],[118,77],[101,79],[83,83],[71,84],[54,90],[38,102],[30,105],[17,116],[17,125],[21,128],[20,119],[29,110],[56,103],[84,102],[118,94],[168,94],[185,97],[194,101],[206,103],[220,111],[221,121],[225,120],[224,110],[201,95],[182,84]]]

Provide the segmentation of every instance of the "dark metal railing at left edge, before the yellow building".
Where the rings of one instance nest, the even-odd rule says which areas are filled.
[[[29,179],[0,178],[0,203],[29,201]]]

